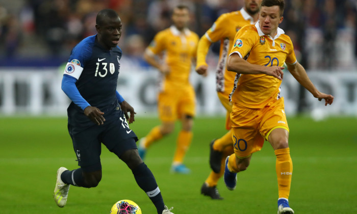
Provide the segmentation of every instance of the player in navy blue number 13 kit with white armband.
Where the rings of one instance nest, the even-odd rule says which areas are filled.
[[[136,113],[116,91],[122,55],[117,46],[122,28],[120,17],[114,10],[101,10],[95,28],[97,35],[85,38],[72,49],[62,79],[62,90],[72,101],[67,109],[68,132],[80,168],[58,169],[55,201],[59,207],[65,206],[70,185],[98,185],[103,143],[132,170],[158,213],[170,214],[154,175],[138,154],[138,138],[126,121],[132,123]]]

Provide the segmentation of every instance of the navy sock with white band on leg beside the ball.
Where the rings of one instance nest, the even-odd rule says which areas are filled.
[[[132,172],[140,188],[145,191],[146,195],[154,203],[158,213],[161,214],[165,204],[159,186],[150,169],[147,168],[145,163],[141,163]]]

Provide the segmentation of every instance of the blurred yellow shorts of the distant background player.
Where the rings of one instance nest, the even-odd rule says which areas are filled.
[[[165,89],[159,93],[158,111],[161,121],[175,121],[183,115],[194,117],[195,108],[195,91],[192,86]]]

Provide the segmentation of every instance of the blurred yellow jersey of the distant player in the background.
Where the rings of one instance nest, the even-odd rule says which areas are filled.
[[[164,76],[164,89],[189,85],[192,59],[196,57],[198,35],[188,29],[181,33],[175,26],[159,32],[150,45],[147,53],[160,55],[164,53],[165,63],[170,72]]]

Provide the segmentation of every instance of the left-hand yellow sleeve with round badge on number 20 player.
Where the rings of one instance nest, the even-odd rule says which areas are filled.
[[[230,55],[238,53],[241,58],[244,58],[250,52],[258,36],[252,27],[252,25],[246,25],[237,32]]]

